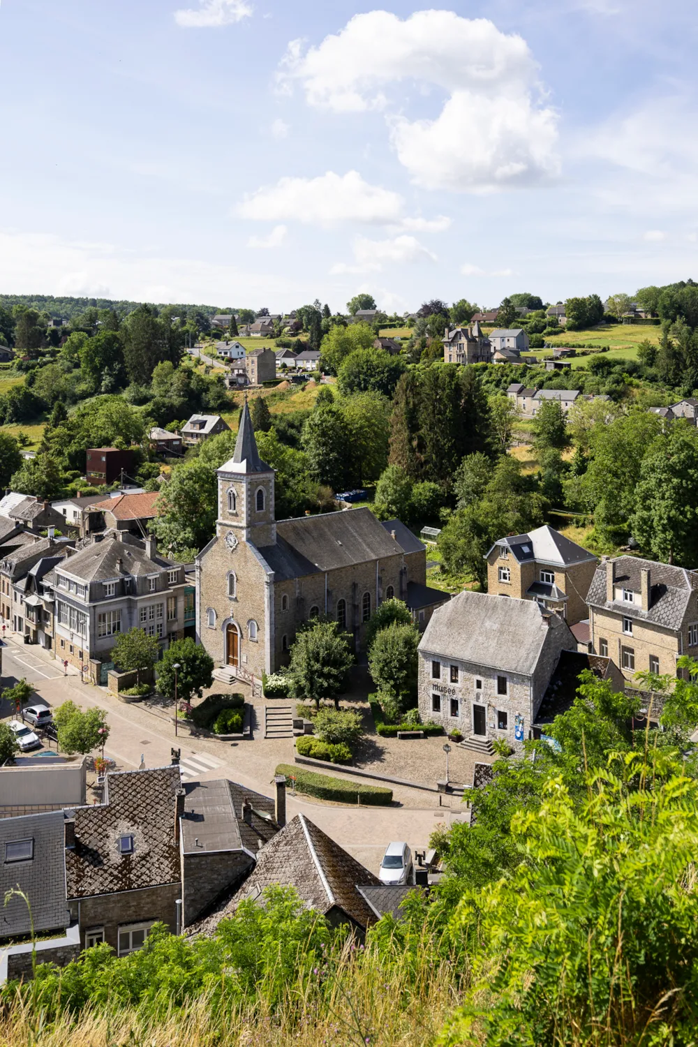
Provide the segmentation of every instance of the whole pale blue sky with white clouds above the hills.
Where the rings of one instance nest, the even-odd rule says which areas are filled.
[[[692,0],[1,0],[0,293],[698,279],[697,43]]]

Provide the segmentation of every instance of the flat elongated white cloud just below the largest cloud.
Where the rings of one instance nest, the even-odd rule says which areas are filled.
[[[370,185],[358,171],[328,171],[317,178],[282,178],[276,185],[263,186],[246,196],[237,213],[241,218],[331,227],[341,222],[399,222],[402,208],[398,193]]]

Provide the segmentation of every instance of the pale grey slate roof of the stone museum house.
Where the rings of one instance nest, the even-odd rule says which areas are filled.
[[[420,651],[531,676],[548,637],[559,630],[573,649],[566,623],[534,600],[466,591],[434,610]]]

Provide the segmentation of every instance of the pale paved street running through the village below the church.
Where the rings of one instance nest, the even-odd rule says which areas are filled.
[[[147,767],[167,765],[172,749],[178,748],[182,776],[187,781],[227,778],[271,797],[274,767],[279,762],[293,763],[293,739],[265,740],[263,730],[255,732],[252,741],[190,737],[181,730],[175,737],[172,708],[120,701],[107,688],[83,683],[72,666],[64,673],[62,663],[50,651],[26,646],[10,636],[2,643],[3,687],[13,686],[21,677],[35,687],[32,701],[55,707],[71,699],[83,708],[104,709],[110,726],[105,755],[116,761],[118,770],[135,770],[141,760]],[[211,690],[220,692],[225,688],[217,684]],[[239,684],[235,690],[245,687]],[[249,698],[249,693],[246,697]],[[264,700],[256,699],[254,707],[257,725],[262,727]],[[0,716],[9,718],[13,714],[7,703],[0,703]],[[335,768],[329,767],[328,772],[335,773]],[[341,768],[336,768],[336,773],[341,777]],[[373,872],[378,872],[391,841],[406,841],[412,850],[422,850],[428,846],[429,836],[437,825],[449,825],[464,818],[457,797],[442,797],[440,802],[436,794],[402,786],[393,786],[390,807],[348,807],[289,794],[287,808],[289,818],[302,811]]]

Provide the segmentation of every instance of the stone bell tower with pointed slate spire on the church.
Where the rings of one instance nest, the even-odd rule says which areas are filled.
[[[274,470],[257,451],[247,400],[240,420],[235,450],[217,471],[217,535],[230,550],[247,541],[260,548],[276,541]]]

